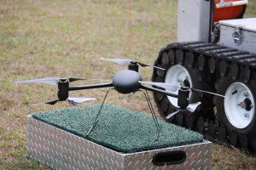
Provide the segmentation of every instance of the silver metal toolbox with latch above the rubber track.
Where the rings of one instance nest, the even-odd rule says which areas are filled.
[[[222,20],[219,24],[222,45],[256,54],[256,18]]]

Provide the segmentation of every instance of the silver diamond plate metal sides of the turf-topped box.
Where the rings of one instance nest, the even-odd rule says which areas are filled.
[[[183,150],[178,165],[154,166],[160,152]],[[189,144],[132,154],[120,153],[27,116],[26,156],[54,169],[211,169],[212,143]]]

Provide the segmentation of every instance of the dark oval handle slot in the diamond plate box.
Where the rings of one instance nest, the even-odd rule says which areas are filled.
[[[183,163],[187,154],[183,150],[159,152],[153,156],[152,163],[155,166],[166,166]]]

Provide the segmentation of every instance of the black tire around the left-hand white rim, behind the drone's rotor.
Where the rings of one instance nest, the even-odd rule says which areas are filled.
[[[197,65],[198,54],[195,54],[194,59],[187,59],[190,57],[192,52],[185,51],[179,48],[177,51],[173,49],[160,51],[159,58],[155,61],[154,65],[163,67],[168,71],[172,65],[182,65],[188,72],[191,77],[191,82],[193,88],[198,88],[202,90],[207,90],[214,92],[214,81],[211,80],[212,77],[209,77],[205,72],[199,71]],[[178,57],[177,57],[178,56]],[[192,64],[191,64],[192,63]],[[165,82],[166,72],[163,71],[154,71],[152,81],[153,82]],[[210,86],[212,84],[212,86]],[[160,116],[166,120],[166,116],[171,114],[174,111],[177,111],[177,108],[172,105],[172,103],[164,96],[162,99],[159,97],[160,94],[154,93],[154,100],[158,106],[158,111]],[[201,107],[194,115],[183,112],[179,113],[171,120],[166,120],[167,122],[175,123],[179,126],[188,127],[190,129],[197,130],[197,121],[199,117],[203,117],[204,121],[215,121],[215,116],[213,112],[213,102],[212,95],[209,94],[199,94],[192,93],[190,103],[195,103],[201,101]]]

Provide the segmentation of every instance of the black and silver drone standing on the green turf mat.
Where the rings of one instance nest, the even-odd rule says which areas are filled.
[[[172,116],[175,116],[177,113],[181,111],[189,111],[189,113],[193,114],[201,102],[197,102],[194,104],[189,104],[189,94],[192,92],[198,93],[207,93],[217,95],[219,97],[225,98],[225,96],[220,94],[214,94],[212,92],[203,91],[196,88],[190,88],[189,83],[183,82],[181,85],[165,83],[165,82],[143,82],[143,78],[139,73],[139,66],[147,67],[150,65],[145,65],[141,62],[133,61],[131,59],[104,59],[116,63],[121,66],[127,66],[127,70],[118,71],[114,76],[112,82],[108,83],[100,83],[100,84],[92,84],[86,86],[77,86],[77,87],[70,87],[70,82],[75,81],[83,81],[83,80],[100,80],[100,79],[86,79],[86,78],[56,78],[56,77],[47,77],[42,79],[35,79],[35,80],[27,80],[27,81],[20,81],[16,83],[44,83],[49,85],[55,85],[58,87],[57,97],[53,101],[35,104],[47,104],[47,105],[55,105],[60,101],[67,101],[70,105],[78,105],[80,103],[95,100],[95,98],[73,98],[69,97],[69,92],[78,91],[78,90],[86,90],[86,89],[93,89],[93,88],[108,88],[107,93],[105,94],[104,99],[102,100],[102,105],[100,105],[100,109],[98,110],[95,120],[90,127],[89,131],[86,133],[86,136],[90,135],[93,129],[96,127],[97,122],[99,121],[99,116],[102,112],[102,107],[105,104],[105,101],[108,97],[108,93],[111,90],[117,91],[119,94],[135,94],[137,92],[142,92],[145,96],[145,99],[148,103],[148,108],[153,116],[154,124],[157,129],[155,134],[155,141],[157,141],[160,137],[160,124],[157,121],[156,114],[154,112],[152,103],[149,99],[148,91],[165,94],[167,96],[177,98],[177,111],[169,114],[166,116],[166,119],[171,119]],[[160,69],[165,71],[165,69],[153,66],[154,69]],[[143,84],[151,85],[153,87],[148,87]]]

